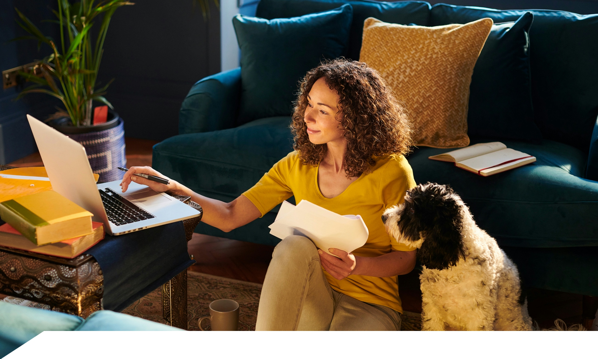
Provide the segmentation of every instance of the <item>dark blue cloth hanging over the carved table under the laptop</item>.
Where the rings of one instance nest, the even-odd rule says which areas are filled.
[[[86,251],[104,276],[103,308],[120,312],[195,263],[182,222],[120,236],[106,235]]]

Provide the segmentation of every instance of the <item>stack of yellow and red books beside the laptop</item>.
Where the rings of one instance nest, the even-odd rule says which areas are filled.
[[[48,190],[0,202],[0,246],[74,258],[104,238],[93,214]]]

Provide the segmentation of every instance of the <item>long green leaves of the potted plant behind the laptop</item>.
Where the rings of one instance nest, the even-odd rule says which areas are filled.
[[[203,1],[203,0],[202,0]],[[217,4],[217,0],[213,0]],[[52,53],[42,60],[42,75],[23,75],[33,85],[19,94],[19,98],[27,93],[45,93],[60,99],[66,112],[75,125],[82,123],[86,117],[86,105],[89,100],[112,104],[103,97],[112,80],[96,89],[97,73],[102,60],[103,44],[108,31],[112,14],[124,5],[133,5],[126,0],[57,0],[58,7],[52,10],[56,18],[44,20],[58,23],[60,29],[60,49],[53,40],[44,36],[33,23],[17,10],[17,23],[30,36],[19,39],[36,39],[38,47],[47,43]],[[94,27],[97,16],[101,25]],[[66,34],[65,34],[66,33]]]

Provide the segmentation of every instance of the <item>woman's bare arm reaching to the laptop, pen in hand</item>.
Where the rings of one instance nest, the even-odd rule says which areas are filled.
[[[221,229],[224,232],[230,232],[237,227],[248,224],[259,218],[261,215],[260,210],[254,203],[243,195],[237,197],[233,202],[227,203],[195,193],[190,188],[185,187],[170,178],[168,178],[170,183],[166,185],[135,176],[134,174],[147,174],[167,178],[163,174],[160,174],[160,172],[155,171],[155,169],[148,166],[132,167],[129,168],[129,171],[127,171],[126,174],[124,174],[123,182],[121,183],[123,192],[129,188],[129,183],[133,181],[138,184],[147,185],[157,192],[170,191],[174,194],[179,194],[180,196],[191,196],[191,199],[194,200],[194,202],[197,202],[202,206],[202,222]]]

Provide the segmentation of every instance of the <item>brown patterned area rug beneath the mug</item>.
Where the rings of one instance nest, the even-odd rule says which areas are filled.
[[[233,299],[239,303],[239,330],[255,330],[260,303],[261,284],[237,281],[197,272],[187,272],[187,306],[189,330],[199,330],[197,320],[209,314],[208,306],[216,299]],[[162,318],[162,293],[158,288],[125,309],[123,313],[167,324]],[[209,330],[209,321],[202,322]],[[405,312],[401,330],[421,330],[419,313]]]

